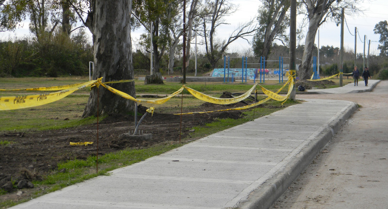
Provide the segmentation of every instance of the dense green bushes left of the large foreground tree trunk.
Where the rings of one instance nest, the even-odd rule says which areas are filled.
[[[65,33],[44,33],[0,41],[0,76],[88,75],[93,46],[84,31],[69,37]]]

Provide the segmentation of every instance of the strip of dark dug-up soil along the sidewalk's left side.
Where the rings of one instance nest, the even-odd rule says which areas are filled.
[[[251,101],[253,102],[253,101]],[[243,106],[245,104],[217,105],[205,103],[194,111],[210,111]],[[144,114],[147,107],[139,105],[139,113]],[[155,112],[147,114],[139,126],[143,132],[151,133],[152,140],[120,140],[119,135],[134,130],[134,117],[109,116],[98,124],[98,155],[115,152],[126,148],[146,148],[154,144],[179,141],[185,138],[194,126],[204,126],[216,119],[239,119],[243,111],[222,111],[205,114],[190,114],[182,116],[182,135],[179,136],[179,115]],[[140,117],[138,117],[138,120]],[[7,132],[0,133],[0,141],[13,143],[0,146],[0,187],[11,179],[16,184],[26,179],[42,180],[52,171],[58,172],[57,164],[67,160],[86,159],[97,154],[97,123],[49,131],[29,131],[25,133]],[[88,146],[70,146],[70,142],[94,142]],[[11,187],[12,188],[12,187]],[[3,188],[4,189],[4,188]],[[17,200],[26,195],[31,195],[32,189],[24,189],[22,195],[16,195],[13,189],[8,194],[0,195],[0,202]]]

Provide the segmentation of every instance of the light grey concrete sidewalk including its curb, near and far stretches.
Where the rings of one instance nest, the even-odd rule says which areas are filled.
[[[314,91],[364,92],[378,81],[369,83]],[[356,109],[349,101],[308,99],[12,208],[269,208]]]

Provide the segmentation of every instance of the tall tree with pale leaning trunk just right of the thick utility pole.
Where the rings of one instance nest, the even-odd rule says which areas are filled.
[[[315,42],[315,35],[318,27],[327,20],[335,21],[339,24],[341,9],[345,8],[347,14],[359,11],[356,4],[361,0],[302,0],[305,7],[308,28],[303,52],[302,64],[299,68],[299,78],[306,80],[310,78],[311,58]]]

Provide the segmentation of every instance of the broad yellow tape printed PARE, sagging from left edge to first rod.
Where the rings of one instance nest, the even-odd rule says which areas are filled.
[[[68,96],[69,94],[73,93],[76,90],[89,87],[92,84],[98,82],[99,80],[88,81],[85,83],[78,84],[77,86],[71,87],[69,89],[52,92],[52,93],[0,97],[0,110],[21,109],[21,108],[39,106],[43,104],[49,104]]]

